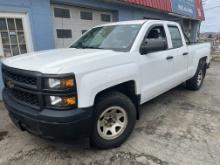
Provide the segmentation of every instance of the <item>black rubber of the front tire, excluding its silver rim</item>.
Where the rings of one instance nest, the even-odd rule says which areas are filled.
[[[128,117],[128,123],[124,132],[119,137],[114,140],[105,140],[98,133],[97,122],[103,111],[112,106],[119,106],[125,110]],[[113,92],[104,96],[103,99],[101,99],[100,102],[98,102],[95,106],[95,120],[93,125],[93,133],[91,136],[92,145],[100,149],[120,146],[131,134],[132,130],[134,129],[135,122],[136,109],[132,101],[127,96],[118,92]]]

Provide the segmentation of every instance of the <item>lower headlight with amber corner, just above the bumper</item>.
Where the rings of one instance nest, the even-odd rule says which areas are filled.
[[[72,107],[76,106],[76,103],[74,96],[49,96],[49,105],[52,107]]]

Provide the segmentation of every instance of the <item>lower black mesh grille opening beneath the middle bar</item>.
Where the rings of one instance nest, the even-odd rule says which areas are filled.
[[[20,90],[10,90],[10,94],[17,100],[24,102],[26,104],[32,105],[32,106],[40,106],[38,96],[35,94],[31,94],[28,92],[20,91]]]

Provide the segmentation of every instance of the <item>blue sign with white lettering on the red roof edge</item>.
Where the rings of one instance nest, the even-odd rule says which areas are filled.
[[[196,18],[195,0],[172,0],[173,13]]]

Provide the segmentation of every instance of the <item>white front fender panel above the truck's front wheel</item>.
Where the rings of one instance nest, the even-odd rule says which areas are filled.
[[[135,63],[129,63],[76,76],[78,107],[93,106],[99,92],[127,81],[135,81],[135,93],[140,94],[141,81],[138,70]]]

